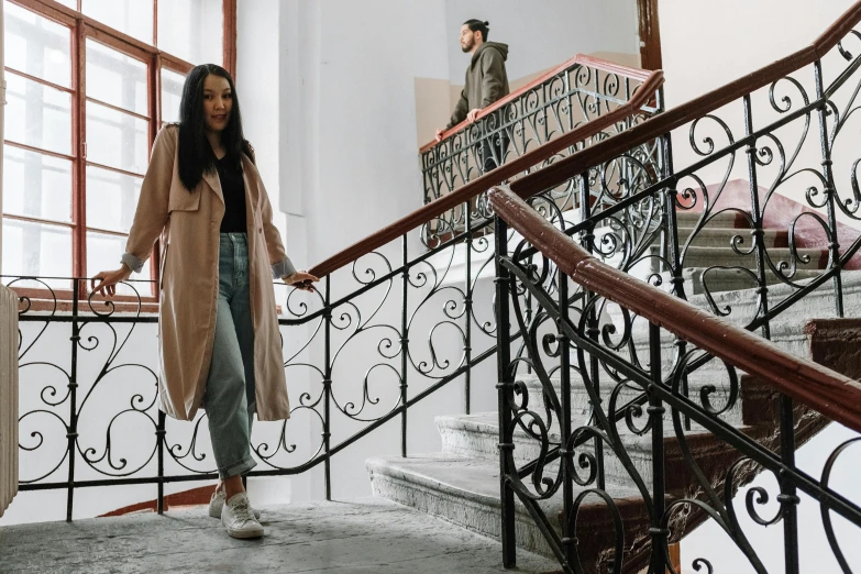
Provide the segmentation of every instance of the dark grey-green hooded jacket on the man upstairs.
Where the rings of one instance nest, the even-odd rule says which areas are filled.
[[[478,46],[470,67],[466,68],[466,84],[457,106],[454,107],[452,119],[445,126],[446,130],[464,121],[471,110],[487,108],[508,96],[506,59],[508,59],[508,44],[485,42]]]

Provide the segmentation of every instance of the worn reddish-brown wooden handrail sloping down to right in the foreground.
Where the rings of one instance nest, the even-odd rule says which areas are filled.
[[[488,197],[500,218],[584,289],[861,432],[861,383],[793,356],[766,339],[601,263],[510,190],[494,188]]]

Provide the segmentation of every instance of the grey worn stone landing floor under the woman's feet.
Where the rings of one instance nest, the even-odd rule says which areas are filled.
[[[498,542],[377,498],[263,508],[266,537],[234,540],[205,507],[0,528],[0,572],[24,573],[550,573]]]

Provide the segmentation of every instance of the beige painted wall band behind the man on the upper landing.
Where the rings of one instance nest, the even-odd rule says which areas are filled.
[[[571,57],[574,55],[572,54]],[[639,54],[594,52],[589,55],[622,66],[640,66]],[[539,69],[516,79],[509,79],[511,91],[516,91],[534,81],[559,64],[562,64],[562,62],[549,68]],[[465,66],[466,62],[464,62],[464,69]],[[457,103],[457,99],[461,97],[461,90],[463,90],[463,84],[451,84],[444,79],[416,78],[416,135],[419,147],[433,140],[438,128],[444,128],[449,123],[454,104]]]

